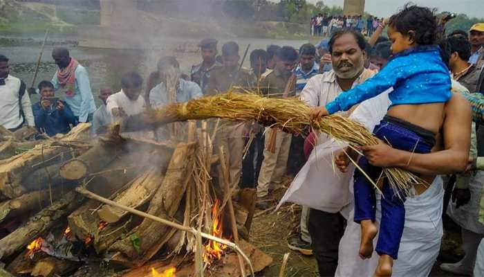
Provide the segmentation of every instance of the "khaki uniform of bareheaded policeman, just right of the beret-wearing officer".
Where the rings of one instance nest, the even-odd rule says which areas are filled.
[[[215,95],[223,93],[232,86],[235,87],[252,87],[256,82],[255,76],[247,69],[241,69],[239,74],[229,73],[224,66],[220,66],[214,71],[208,80],[207,91],[205,95]],[[225,150],[225,159],[227,160],[230,171],[230,187],[238,186],[242,172],[242,156],[244,148],[244,123],[232,123],[228,120],[222,120],[215,138],[215,148],[218,153],[220,146]],[[221,166],[218,166],[218,184],[223,186]]]

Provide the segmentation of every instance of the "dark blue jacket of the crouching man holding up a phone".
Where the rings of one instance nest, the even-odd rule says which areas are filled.
[[[35,118],[35,127],[40,132],[44,131],[48,136],[55,136],[56,134],[67,134],[73,126],[77,125],[77,119],[75,118],[73,111],[69,105],[64,103],[64,109],[57,111],[55,106],[52,105],[49,109],[42,109],[40,102],[32,105],[32,111]]]

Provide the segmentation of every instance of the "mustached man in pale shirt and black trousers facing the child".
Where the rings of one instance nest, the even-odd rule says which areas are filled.
[[[333,69],[310,78],[301,91],[301,100],[312,107],[324,106],[339,93],[371,78],[373,71],[364,69],[363,66],[365,46],[361,33],[354,30],[341,30],[335,33],[328,42]],[[319,134],[318,139],[318,143],[322,143],[329,137]],[[304,220],[307,215],[301,216]],[[308,217],[311,246],[317,260],[319,275],[333,276],[337,267],[338,244],[344,232],[344,217],[338,212],[327,213],[315,209],[310,209]]]

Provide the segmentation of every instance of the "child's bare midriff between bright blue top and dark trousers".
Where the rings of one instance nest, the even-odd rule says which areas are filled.
[[[444,107],[445,103],[395,105],[387,114],[438,134],[444,120]]]

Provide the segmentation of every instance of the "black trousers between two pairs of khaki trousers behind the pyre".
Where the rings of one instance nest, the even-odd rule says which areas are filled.
[[[249,139],[245,139],[247,144]],[[264,152],[263,132],[259,132],[252,140],[245,159],[242,160],[241,188],[256,188],[259,172],[261,172]]]

